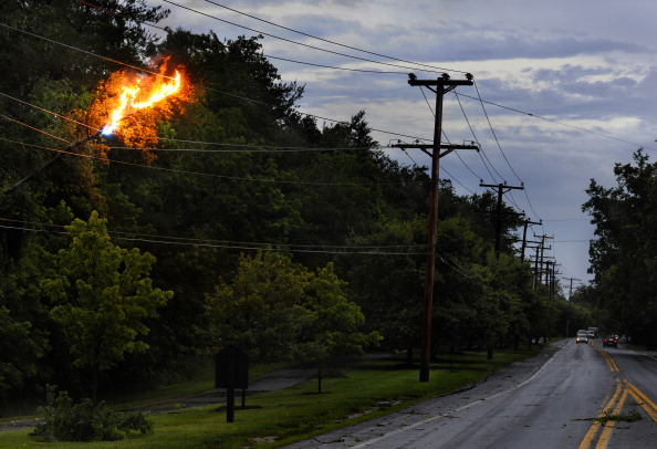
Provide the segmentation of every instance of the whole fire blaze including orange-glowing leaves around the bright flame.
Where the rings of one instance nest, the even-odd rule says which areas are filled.
[[[144,158],[153,160],[155,156],[148,148],[159,142],[158,123],[180,113],[190,98],[191,86],[182,69],[169,69],[165,59],[157,73],[119,70],[109,75],[95,93],[88,123],[105,137],[116,135],[126,146],[140,148]],[[106,146],[93,146],[105,156]]]

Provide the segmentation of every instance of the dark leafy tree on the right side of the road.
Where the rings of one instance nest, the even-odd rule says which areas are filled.
[[[617,186],[604,188],[594,179],[583,210],[595,224],[590,248],[595,273],[596,305],[632,334],[635,342],[657,346],[657,164],[640,149],[634,165],[616,164]],[[612,324],[612,323],[609,323]]]

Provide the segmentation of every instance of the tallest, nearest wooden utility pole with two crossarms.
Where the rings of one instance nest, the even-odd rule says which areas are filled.
[[[429,363],[431,358],[431,317],[434,307],[434,278],[436,272],[436,232],[438,226],[438,182],[440,175],[440,158],[455,149],[479,149],[474,145],[440,145],[442,135],[442,97],[446,93],[455,90],[457,86],[471,86],[472,75],[467,73],[467,80],[450,80],[447,73],[444,73],[436,80],[418,80],[413,73],[408,74],[408,84],[411,86],[425,86],[436,93],[436,118],[434,125],[434,144],[431,145],[393,145],[398,148],[420,148],[431,156],[431,190],[429,202],[429,232],[427,243],[427,274],[425,279],[425,306],[423,314],[423,336],[421,336],[421,361],[419,382],[429,382]],[[445,153],[440,153],[446,148]],[[431,149],[431,152],[428,152]]]

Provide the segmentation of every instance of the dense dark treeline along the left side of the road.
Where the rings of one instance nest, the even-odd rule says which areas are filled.
[[[426,167],[380,150],[363,111],[330,124],[301,114],[305,86],[281,81],[261,36],[157,40],[143,23],[167,11],[91,3],[0,4],[2,404],[46,384],[90,395],[92,378],[101,390],[177,379],[228,341],[253,359],[417,348]],[[116,61],[161,56],[195,88],[157,122],[156,148],[121,134],[58,140],[98,126],[94,102]],[[534,282],[512,215],[496,258],[481,213],[496,202],[440,185],[436,352],[591,322]]]

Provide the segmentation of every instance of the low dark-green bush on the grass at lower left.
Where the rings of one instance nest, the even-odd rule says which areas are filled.
[[[44,420],[30,434],[43,441],[115,441],[131,430],[153,432],[153,420],[143,413],[111,411],[104,401],[94,406],[91,399],[73,404],[67,391],[55,389],[48,387],[46,405],[39,407]]]

